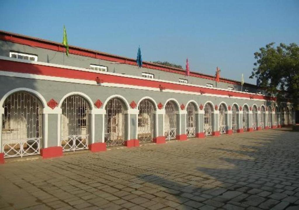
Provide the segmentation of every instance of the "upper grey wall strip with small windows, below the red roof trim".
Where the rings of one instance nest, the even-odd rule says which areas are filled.
[[[86,57],[86,56],[78,56],[78,55],[73,55],[73,54],[66,56],[66,55],[64,55],[65,53],[57,52],[54,50],[30,47],[27,45],[21,45],[21,44],[16,44],[16,43],[0,40],[0,56],[9,56],[10,51],[16,51],[16,52],[37,55],[38,61],[40,61],[40,62],[74,66],[74,67],[80,67],[80,68],[89,68],[90,64],[103,65],[103,66],[107,66],[108,71],[113,72],[113,73],[123,73],[123,74],[133,75],[133,76],[141,76],[141,74],[143,72],[146,72],[146,73],[154,74],[155,79],[163,79],[163,80],[169,80],[169,81],[174,81],[174,82],[179,82],[179,79],[188,79],[189,84],[206,86],[207,83],[210,83],[210,84],[213,84],[213,86],[217,87],[217,88],[227,89],[228,87],[232,87],[236,91],[241,91],[240,85],[233,85],[233,84],[228,84],[225,82],[219,82],[219,83],[217,83],[217,86],[216,86],[216,82],[214,80],[210,80],[210,79],[203,79],[203,78],[192,77],[192,76],[185,77],[184,75],[180,75],[177,73],[164,72],[161,70],[154,70],[154,69],[149,69],[149,68],[141,68],[140,69],[137,66],[120,64],[120,63],[110,62],[110,61],[101,60],[101,59],[95,59],[95,58]],[[214,72],[211,72],[211,74],[214,74]],[[244,84],[243,91],[245,89],[248,89],[249,92],[251,92],[251,93],[256,93],[256,89],[253,88],[252,86],[246,86],[246,84]]]

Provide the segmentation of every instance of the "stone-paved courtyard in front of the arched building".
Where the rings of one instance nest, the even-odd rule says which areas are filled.
[[[0,209],[299,209],[299,132],[0,165]]]

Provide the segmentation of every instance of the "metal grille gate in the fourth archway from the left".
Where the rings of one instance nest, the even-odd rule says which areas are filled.
[[[149,99],[140,102],[138,114],[138,140],[139,142],[152,142],[154,131],[154,106]]]

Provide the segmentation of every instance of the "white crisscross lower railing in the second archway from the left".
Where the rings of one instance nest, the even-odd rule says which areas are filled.
[[[72,135],[61,137],[62,151],[75,151],[88,148],[89,135]]]

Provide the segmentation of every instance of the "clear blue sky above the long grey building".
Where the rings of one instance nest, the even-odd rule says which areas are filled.
[[[249,79],[253,53],[267,43],[299,44],[299,0],[282,1],[7,1],[0,30],[145,61],[168,61],[191,71]]]

